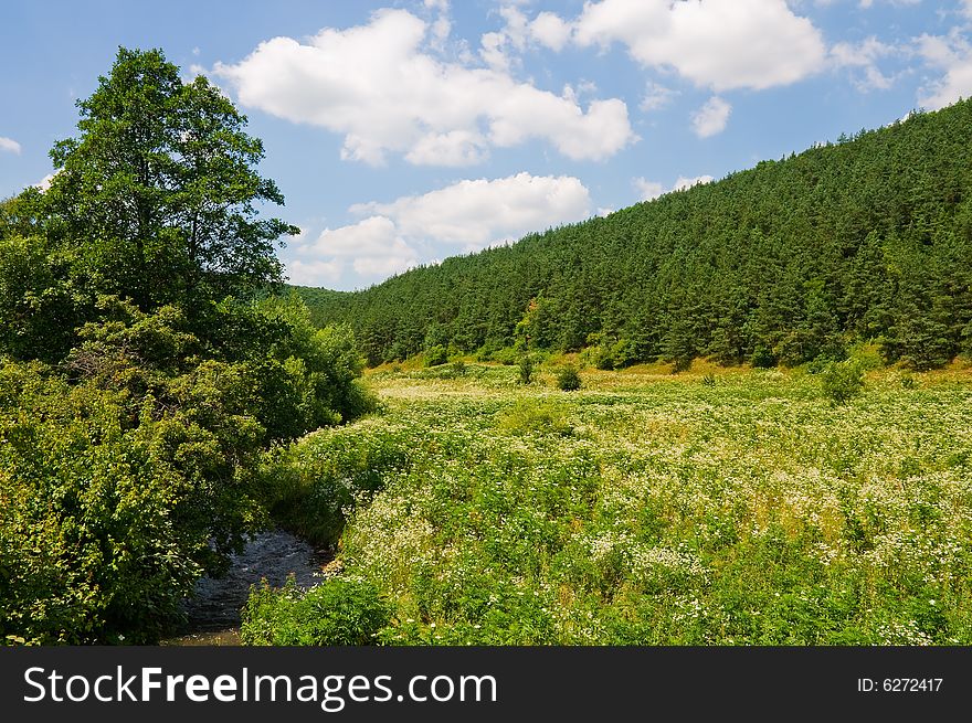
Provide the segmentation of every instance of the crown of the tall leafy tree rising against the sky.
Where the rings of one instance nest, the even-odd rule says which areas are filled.
[[[257,217],[283,196],[219,88],[183,82],[159,50],[119,49],[77,105],[80,135],[51,151],[46,232],[94,291],[149,310],[279,281],[274,242],[298,230]]]

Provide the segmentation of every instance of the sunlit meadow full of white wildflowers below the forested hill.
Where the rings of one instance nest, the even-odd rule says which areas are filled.
[[[972,644],[960,379],[461,372],[373,374],[380,414],[266,465],[377,642]],[[290,641],[300,597],[254,595],[244,640]]]

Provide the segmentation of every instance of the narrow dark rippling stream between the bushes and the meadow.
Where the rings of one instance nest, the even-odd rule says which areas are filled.
[[[320,582],[320,568],[329,559],[283,530],[251,538],[243,552],[231,559],[225,576],[197,583],[196,596],[183,603],[188,623],[163,645],[240,645],[240,610],[251,585],[266,578],[279,587],[293,573],[298,585],[309,587]]]

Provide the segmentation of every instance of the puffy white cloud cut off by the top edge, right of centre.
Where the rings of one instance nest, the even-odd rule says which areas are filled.
[[[581,45],[621,42],[641,64],[717,92],[795,83],[826,59],[820,31],[784,0],[602,0],[574,29]]]

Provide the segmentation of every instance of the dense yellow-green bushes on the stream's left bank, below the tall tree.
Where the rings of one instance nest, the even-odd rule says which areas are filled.
[[[151,641],[258,522],[242,467],[254,425],[242,421],[232,447],[191,410],[158,412],[151,397],[133,408],[124,392],[2,366],[0,634]]]

